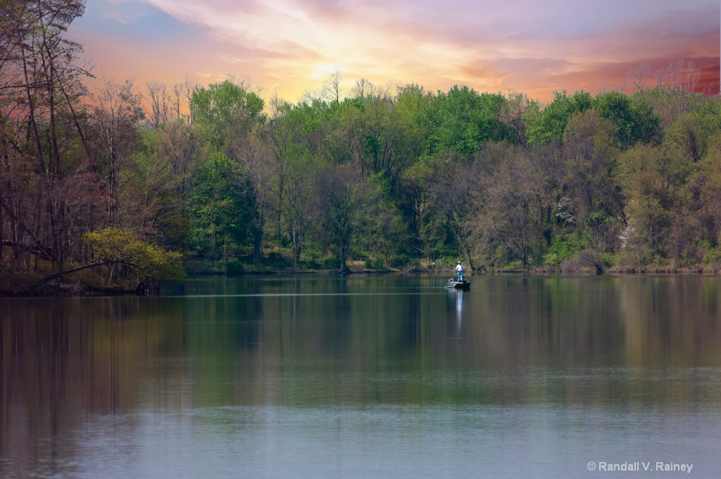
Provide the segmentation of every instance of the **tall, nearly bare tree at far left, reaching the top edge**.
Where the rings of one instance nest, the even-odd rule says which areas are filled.
[[[81,0],[0,1],[0,148],[4,188],[17,193],[1,207],[13,229],[14,266],[25,249],[27,269],[32,252],[37,265],[41,250],[53,268],[62,268],[76,224],[74,179],[89,157],[79,98],[89,71],[79,60],[81,46],[64,33],[84,6]]]

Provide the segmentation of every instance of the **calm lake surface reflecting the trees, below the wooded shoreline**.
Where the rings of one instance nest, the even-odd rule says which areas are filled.
[[[721,477],[720,277],[470,279],[0,300],[0,477]]]

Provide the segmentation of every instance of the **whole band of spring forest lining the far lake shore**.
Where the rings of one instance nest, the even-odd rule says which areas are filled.
[[[692,64],[640,66],[624,91],[547,103],[364,79],[343,91],[336,72],[290,103],[233,77],[96,78],[65,36],[84,0],[0,10],[8,284],[76,271],[78,284],[142,289],[185,271],[456,260],[474,271],[721,268],[721,98],[696,92]]]

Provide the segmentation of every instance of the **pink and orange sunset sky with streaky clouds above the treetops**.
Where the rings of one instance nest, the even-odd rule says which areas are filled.
[[[350,92],[621,89],[629,71],[693,62],[718,92],[719,0],[87,0],[68,37],[94,73],[206,85],[232,74],[296,102],[336,69]]]

